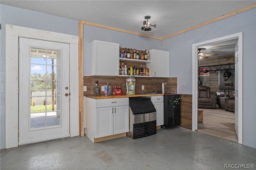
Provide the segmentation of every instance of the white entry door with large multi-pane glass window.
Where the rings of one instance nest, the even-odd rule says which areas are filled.
[[[19,45],[19,144],[70,136],[69,44]]]

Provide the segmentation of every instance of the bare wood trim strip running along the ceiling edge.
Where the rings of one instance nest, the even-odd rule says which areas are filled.
[[[128,33],[128,34],[134,34],[134,35],[137,35],[137,36],[143,36],[143,37],[148,37],[148,38],[153,38],[153,39],[156,39],[156,40],[165,40],[167,38],[170,38],[170,37],[173,37],[173,36],[177,36],[179,34],[182,34],[184,32],[188,32],[188,31],[191,31],[191,30],[194,30],[196,28],[199,28],[199,27],[202,27],[202,26],[205,26],[207,24],[211,24],[213,22],[216,22],[216,21],[219,21],[219,20],[222,20],[224,18],[228,18],[230,16],[234,16],[236,14],[240,14],[241,12],[245,12],[247,10],[251,10],[253,8],[256,8],[256,3],[255,4],[252,4],[250,6],[246,6],[244,8],[241,8],[239,10],[236,10],[234,12],[230,12],[228,14],[225,14],[225,15],[222,15],[222,16],[219,16],[217,18],[214,18],[212,20],[209,20],[209,21],[206,21],[206,22],[203,22],[201,24],[198,24],[198,25],[195,25],[195,26],[192,26],[190,28],[186,28],[185,30],[181,30],[179,32],[176,32],[174,34],[170,34],[169,36],[165,36],[165,37],[155,37],[155,36],[150,36],[150,35],[147,35],[147,34],[141,34],[141,33],[138,33],[138,32],[132,32],[132,31],[127,31],[127,30],[123,30],[123,29],[119,29],[119,28],[114,28],[114,27],[110,27],[110,26],[104,26],[104,25],[101,25],[101,24],[96,24],[96,23],[93,23],[93,22],[88,22],[88,21],[83,21],[81,20],[81,22],[83,24],[87,24],[87,25],[90,25],[90,26],[96,26],[96,27],[100,27],[100,28],[106,28],[106,29],[109,29],[109,30],[114,30],[114,31],[119,31],[119,32],[124,32],[124,33]]]

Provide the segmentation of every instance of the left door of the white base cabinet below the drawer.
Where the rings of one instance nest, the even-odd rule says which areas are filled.
[[[96,108],[95,138],[113,134],[113,107]]]

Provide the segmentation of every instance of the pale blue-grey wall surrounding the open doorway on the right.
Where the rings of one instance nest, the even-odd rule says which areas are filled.
[[[178,93],[192,94],[192,44],[243,32],[243,144],[256,148],[256,9],[162,41]]]

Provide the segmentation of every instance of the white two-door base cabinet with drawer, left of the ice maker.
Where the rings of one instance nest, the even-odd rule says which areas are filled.
[[[86,97],[86,136],[95,138],[129,131],[129,98],[91,99]]]

